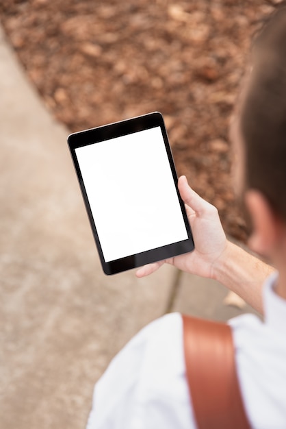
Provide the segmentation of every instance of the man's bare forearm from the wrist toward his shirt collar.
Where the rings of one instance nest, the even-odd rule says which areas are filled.
[[[262,285],[273,271],[270,265],[228,242],[222,257],[213,267],[213,278],[263,313]]]

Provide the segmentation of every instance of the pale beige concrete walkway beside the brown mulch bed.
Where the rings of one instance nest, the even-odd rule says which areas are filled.
[[[167,310],[226,319],[226,290],[163,267],[106,277],[68,153],[68,130],[0,29],[0,427],[84,428],[109,360]]]

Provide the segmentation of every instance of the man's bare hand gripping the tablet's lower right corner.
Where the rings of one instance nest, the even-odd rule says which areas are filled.
[[[178,186],[185,202],[187,218],[194,236],[195,249],[187,254],[144,265],[136,271],[138,278],[153,273],[164,263],[174,265],[187,273],[214,278],[216,262],[228,244],[220,223],[218,210],[190,188],[185,176],[179,178]]]

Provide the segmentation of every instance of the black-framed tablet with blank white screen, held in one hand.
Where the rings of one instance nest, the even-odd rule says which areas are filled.
[[[194,249],[159,112],[68,136],[105,274]]]

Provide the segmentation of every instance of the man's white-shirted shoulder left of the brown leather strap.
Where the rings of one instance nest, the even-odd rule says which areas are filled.
[[[171,313],[148,323],[109,364],[94,389],[88,429],[135,427],[139,415],[140,428],[157,421],[169,428],[167,415],[181,428],[181,419],[190,421],[184,373],[183,321]]]

